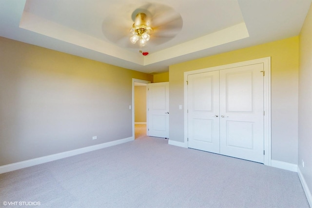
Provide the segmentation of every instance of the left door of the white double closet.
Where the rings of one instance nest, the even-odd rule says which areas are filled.
[[[219,153],[219,72],[188,76],[188,147]]]

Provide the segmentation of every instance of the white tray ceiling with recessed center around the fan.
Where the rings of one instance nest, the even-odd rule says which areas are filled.
[[[312,0],[0,0],[0,36],[141,72],[299,34]],[[180,14],[181,31],[143,47],[130,44],[132,13],[163,4]],[[124,38],[112,42],[103,31],[117,17]],[[125,25],[129,25],[125,28]],[[122,29],[121,29],[122,28]],[[123,29],[125,28],[125,29]]]

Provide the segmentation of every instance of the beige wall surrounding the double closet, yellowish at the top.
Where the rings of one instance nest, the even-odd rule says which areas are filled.
[[[297,164],[298,37],[170,66],[170,140],[184,142],[184,72],[264,57],[271,57],[272,159]]]

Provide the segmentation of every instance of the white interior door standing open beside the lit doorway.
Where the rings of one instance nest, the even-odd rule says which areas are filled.
[[[148,85],[147,135],[169,138],[169,82]]]

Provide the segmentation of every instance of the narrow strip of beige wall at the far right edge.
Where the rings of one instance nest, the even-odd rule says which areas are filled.
[[[312,6],[301,29],[299,49],[298,166],[310,189],[312,206]]]

